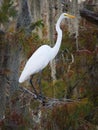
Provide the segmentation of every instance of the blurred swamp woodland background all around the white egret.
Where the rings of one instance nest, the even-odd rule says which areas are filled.
[[[62,21],[61,48],[42,72],[42,106],[18,79],[39,46],[54,46],[62,12],[76,18]],[[0,130],[98,130],[98,0],[0,0]]]

